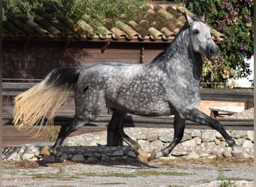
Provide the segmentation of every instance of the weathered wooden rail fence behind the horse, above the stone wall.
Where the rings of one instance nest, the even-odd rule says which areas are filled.
[[[19,93],[31,88],[37,84],[35,82],[3,82],[2,83],[2,95],[3,95],[3,124],[12,125],[13,115],[13,98]],[[253,90],[252,89],[201,89],[201,99],[214,100],[214,101],[228,101],[228,102],[253,102]],[[70,97],[68,102],[61,106],[61,109],[55,117],[55,124],[62,125],[68,123],[74,114],[73,97]],[[97,132],[99,130],[106,129],[106,125],[111,120],[110,114],[102,114],[97,120],[88,124],[86,127],[82,127],[79,132]],[[238,119],[218,119],[226,129],[240,129],[240,130],[253,130],[253,120],[238,120]],[[173,117],[138,117],[135,115],[128,115],[127,120],[124,123],[126,127],[158,127],[158,128],[172,128],[174,123]],[[88,131],[88,129],[90,129]],[[186,122],[186,128],[192,129],[208,129],[207,126],[202,126],[192,121]],[[3,142],[6,144],[13,137],[12,135],[18,135],[20,132],[13,126],[4,126],[6,132],[3,133]],[[16,136],[13,141],[22,141],[24,135]],[[45,137],[44,137],[45,138]],[[18,141],[18,142],[19,142]],[[25,141],[25,139],[24,139]],[[32,139],[31,139],[32,141]]]

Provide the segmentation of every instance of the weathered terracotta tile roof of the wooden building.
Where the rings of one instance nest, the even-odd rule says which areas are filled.
[[[37,37],[41,39],[67,40],[173,40],[186,22],[183,12],[195,16],[183,4],[147,4],[138,20],[125,23],[119,19],[115,24],[104,23],[95,31],[85,20],[77,22],[68,17],[54,17],[49,13],[35,11],[33,20],[24,15],[11,16],[5,13],[3,37]],[[213,40],[222,41],[224,35],[211,29]]]

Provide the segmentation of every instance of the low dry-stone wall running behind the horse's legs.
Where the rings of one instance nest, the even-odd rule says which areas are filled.
[[[170,144],[173,136],[173,129],[155,128],[127,128],[127,135],[138,141],[142,149],[148,155],[156,149],[161,150]],[[162,159],[201,159],[216,157],[238,157],[254,158],[254,132],[253,131],[228,131],[235,139],[240,151],[234,151],[228,147],[222,135],[215,130],[186,129],[183,140],[171,154]],[[67,159],[75,162],[116,160],[116,159],[136,159],[136,155],[124,144],[123,147],[107,147],[106,132],[94,132],[84,135],[77,135],[67,138],[61,147],[58,156],[40,156],[42,145],[22,145],[18,147],[4,147],[2,150],[3,160],[37,160],[44,159],[49,162],[64,161]]]

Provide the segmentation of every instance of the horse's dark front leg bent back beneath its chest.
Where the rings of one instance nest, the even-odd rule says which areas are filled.
[[[171,153],[171,150],[173,150],[174,147],[177,144],[179,144],[181,139],[183,138],[185,125],[186,125],[186,120],[181,119],[178,114],[175,114],[175,116],[174,116],[174,139],[173,139],[173,141],[171,141],[171,144],[169,144],[168,147],[163,148],[159,152],[156,152],[156,150],[153,150],[153,152],[150,155],[150,160],[151,159],[158,159],[161,156],[168,156],[168,154]]]

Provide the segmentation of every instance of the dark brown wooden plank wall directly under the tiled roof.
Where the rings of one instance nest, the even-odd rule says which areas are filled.
[[[43,79],[58,67],[88,67],[100,62],[140,63],[144,48],[144,63],[152,61],[168,43],[110,43],[4,41],[3,79]]]

